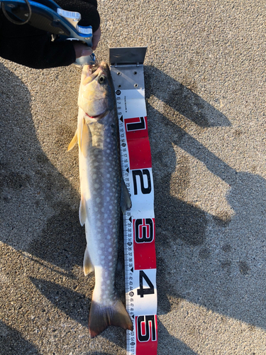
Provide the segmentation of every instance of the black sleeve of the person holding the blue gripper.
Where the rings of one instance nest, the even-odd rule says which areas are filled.
[[[82,15],[82,26],[100,25],[96,0],[55,0],[64,10],[77,11]],[[76,60],[70,40],[52,42],[51,34],[33,26],[15,25],[0,10],[0,57],[36,69],[70,65]]]

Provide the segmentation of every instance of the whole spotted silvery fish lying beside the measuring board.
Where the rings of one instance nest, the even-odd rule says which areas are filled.
[[[131,197],[121,175],[115,92],[106,62],[96,68],[84,65],[78,106],[77,131],[68,151],[78,143],[79,222],[87,240],[84,274],[95,275],[89,311],[93,338],[110,325],[133,330],[115,288],[120,209],[125,213],[131,208]]]

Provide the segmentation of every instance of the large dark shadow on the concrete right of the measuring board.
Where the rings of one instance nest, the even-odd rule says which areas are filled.
[[[196,90],[194,82],[187,82],[187,85]],[[159,309],[162,313],[171,309],[165,297],[167,290],[167,295],[177,300],[187,298],[215,312],[265,328],[265,317],[261,316],[261,311],[265,310],[261,305],[266,300],[262,287],[265,278],[262,265],[265,268],[265,260],[259,256],[259,251],[266,249],[263,232],[266,228],[263,217],[266,210],[265,180],[259,175],[235,171],[186,133],[184,128],[189,124],[187,120],[196,125],[198,131],[215,126],[231,126],[226,116],[192,90],[155,67],[145,67],[157,249],[164,250],[166,247],[171,253],[180,239],[192,247],[189,249],[191,263],[187,270],[178,266],[182,255],[172,252],[171,260],[174,256],[177,258],[172,271],[174,276],[170,273],[168,260],[157,258]],[[160,111],[149,104],[153,102],[153,97],[160,100]],[[239,138],[241,132],[235,134]],[[177,197],[184,195],[189,187],[190,171],[187,159],[184,156],[176,157],[172,143],[204,163],[211,173],[229,185],[230,192],[226,198],[235,213],[232,220],[226,212],[218,216],[208,215],[170,195],[170,183],[173,181]],[[211,254],[209,242],[206,241],[206,227],[209,224],[217,231],[212,244],[221,243],[221,253],[215,256]],[[216,258],[217,269],[212,263]],[[198,261],[203,262],[202,266]],[[255,270],[257,263],[260,269]],[[206,272],[207,268],[209,273]],[[180,286],[180,279],[187,284],[187,290],[185,286]],[[190,292],[191,288],[196,290],[194,295]]]

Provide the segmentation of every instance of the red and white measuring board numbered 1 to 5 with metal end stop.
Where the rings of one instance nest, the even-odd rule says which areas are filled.
[[[109,48],[116,92],[121,168],[132,207],[123,215],[127,355],[157,354],[157,288],[153,173],[143,62],[146,47]]]

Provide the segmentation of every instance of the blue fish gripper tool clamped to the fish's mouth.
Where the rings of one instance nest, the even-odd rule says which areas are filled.
[[[92,26],[79,26],[82,16],[66,11],[52,0],[1,0],[1,10],[16,25],[29,25],[52,33],[55,41],[79,40],[92,47]],[[94,53],[77,58],[77,65],[95,65]]]

